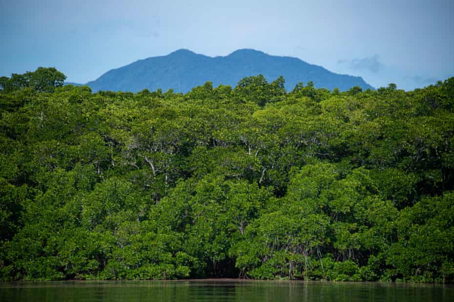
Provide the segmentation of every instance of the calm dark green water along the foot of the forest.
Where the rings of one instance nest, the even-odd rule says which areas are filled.
[[[454,301],[453,285],[288,281],[0,283],[0,301]]]

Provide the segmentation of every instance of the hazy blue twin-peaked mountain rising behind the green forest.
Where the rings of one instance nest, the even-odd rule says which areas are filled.
[[[211,81],[235,87],[246,76],[262,74],[268,82],[284,76],[286,89],[298,82],[313,81],[317,88],[335,87],[341,91],[353,86],[373,89],[359,76],[339,75],[295,57],[270,56],[253,49],[240,49],[226,57],[207,57],[186,49],[167,56],[149,57],[112,69],[94,81],[86,83],[94,92],[99,90],[138,92],[143,89],[186,93],[193,87]]]

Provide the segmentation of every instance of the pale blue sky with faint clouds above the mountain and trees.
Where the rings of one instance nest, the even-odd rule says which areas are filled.
[[[0,0],[0,76],[86,83],[181,48],[252,48],[411,90],[454,76],[453,16],[454,0]]]

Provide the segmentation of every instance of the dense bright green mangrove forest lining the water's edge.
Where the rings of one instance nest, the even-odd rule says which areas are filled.
[[[1,279],[453,281],[454,78],[55,86],[0,91]]]

